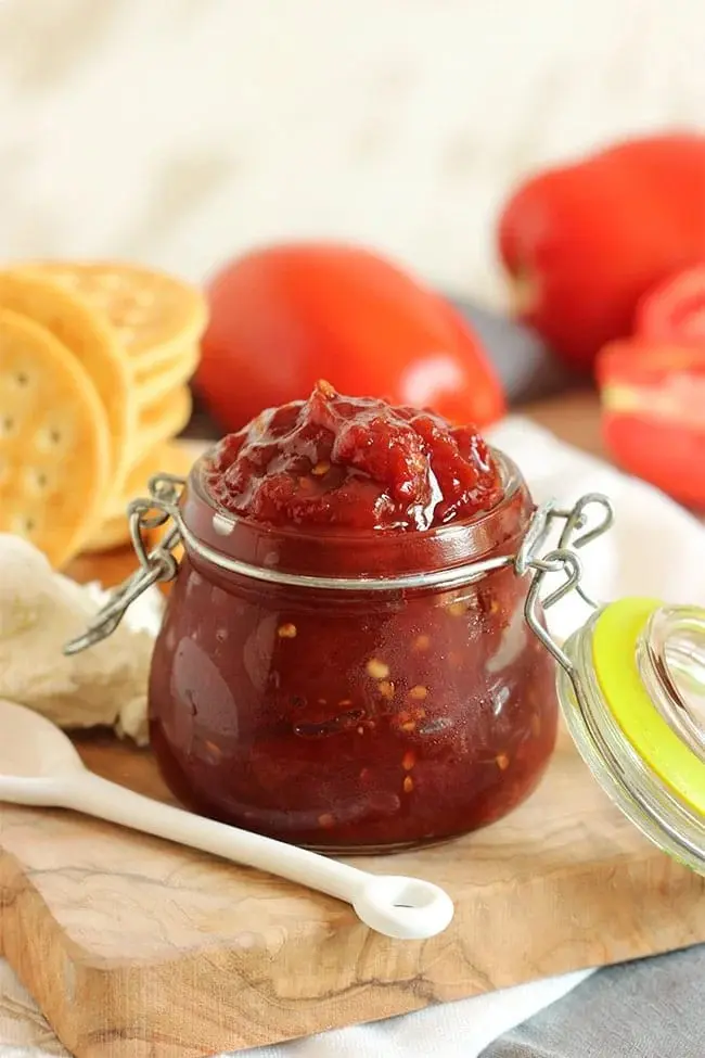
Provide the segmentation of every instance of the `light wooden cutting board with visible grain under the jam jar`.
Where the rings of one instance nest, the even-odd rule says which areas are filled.
[[[535,418],[599,450],[589,398]],[[73,572],[115,582],[130,562]],[[110,737],[78,744],[101,775],[168,799],[149,752]],[[444,885],[449,930],[392,941],[270,876],[78,815],[0,806],[0,946],[79,1058],[185,1058],[705,940],[705,881],[639,836],[567,737],[508,819],[356,863]]]

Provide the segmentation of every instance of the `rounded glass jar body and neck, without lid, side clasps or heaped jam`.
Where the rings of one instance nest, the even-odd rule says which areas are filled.
[[[557,703],[511,564],[535,510],[514,464],[498,456],[503,498],[465,522],[312,535],[223,514],[204,459],[149,687],[179,801],[341,853],[437,842],[522,802]]]

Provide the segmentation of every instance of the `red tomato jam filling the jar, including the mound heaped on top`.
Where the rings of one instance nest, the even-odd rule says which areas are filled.
[[[472,428],[319,383],[202,457],[180,506],[150,725],[183,803],[371,853],[465,833],[531,791],[554,663],[502,559],[534,503]]]

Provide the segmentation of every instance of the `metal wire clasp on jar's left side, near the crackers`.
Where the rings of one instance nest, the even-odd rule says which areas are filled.
[[[175,518],[179,496],[184,485],[185,477],[178,477],[176,474],[155,474],[150,479],[149,497],[140,497],[130,502],[127,509],[130,537],[140,564],[134,573],[112,592],[108,601],[98,611],[86,632],[65,645],[63,650],[65,654],[77,654],[100,642],[101,639],[106,639],[115,632],[128,608],[148,588],[158,582],[172,581],[177,575],[179,563],[172,551],[181,539],[181,533]],[[148,551],[146,532],[166,525],[169,521],[172,524],[163,538],[156,547]]]

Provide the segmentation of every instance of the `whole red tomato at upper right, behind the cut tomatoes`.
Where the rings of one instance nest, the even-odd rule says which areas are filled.
[[[504,206],[498,242],[517,314],[589,369],[631,332],[645,291],[705,260],[705,136],[636,139],[541,173]]]

